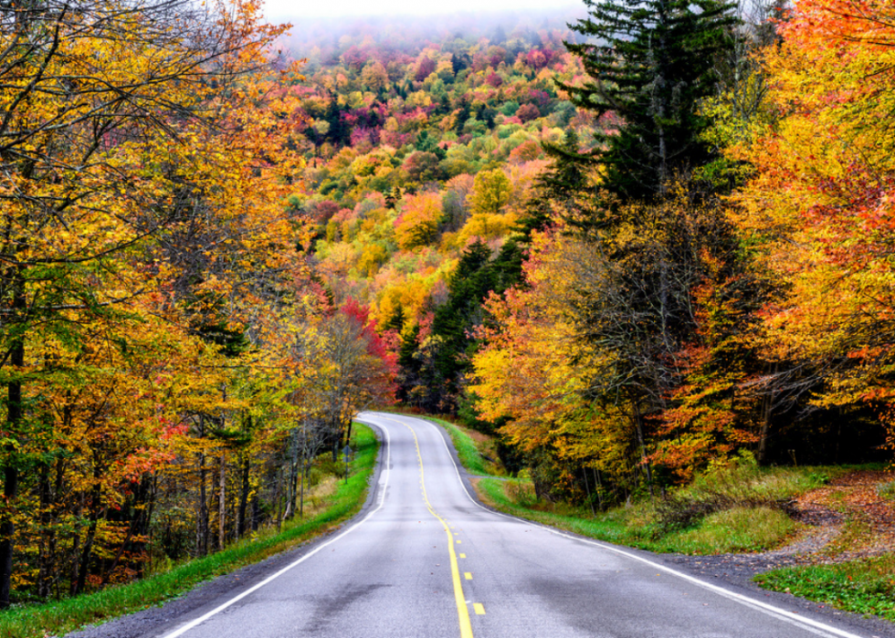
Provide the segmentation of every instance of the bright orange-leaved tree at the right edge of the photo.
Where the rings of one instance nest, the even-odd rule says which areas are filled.
[[[893,395],[895,11],[803,0],[763,55],[774,114],[729,151],[753,167],[738,223],[788,290],[766,351],[810,369],[814,403]]]

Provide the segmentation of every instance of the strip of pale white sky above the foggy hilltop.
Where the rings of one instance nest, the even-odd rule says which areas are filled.
[[[266,0],[269,18],[302,16],[421,16],[468,11],[565,8],[575,0]]]

